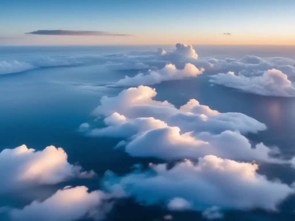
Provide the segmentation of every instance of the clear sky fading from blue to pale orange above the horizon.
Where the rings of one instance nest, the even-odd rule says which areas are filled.
[[[294,11],[294,0],[1,0],[0,44],[294,45]],[[24,34],[40,29],[133,36]]]

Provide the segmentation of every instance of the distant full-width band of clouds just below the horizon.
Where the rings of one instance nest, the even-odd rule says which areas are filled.
[[[15,59],[15,58],[14,58]],[[18,66],[12,61],[6,61],[12,64],[12,68],[19,72]],[[176,44],[172,51],[165,51],[159,48],[157,51],[128,51],[112,55],[81,55],[77,57],[28,57],[21,58],[17,62],[25,62],[34,67],[53,67],[53,66],[71,66],[71,65],[96,65],[96,67],[111,70],[143,70],[150,68],[157,71],[163,69],[167,64],[176,65],[177,69],[184,67],[186,63],[195,65],[197,69],[205,69],[204,74],[227,73],[229,71],[239,73],[247,71],[249,73],[256,71],[267,71],[273,68],[285,73],[292,81],[295,80],[295,60],[285,57],[257,57],[246,55],[242,58],[225,57],[216,59],[214,57],[199,57],[191,45]],[[5,65],[6,66],[6,65]],[[23,70],[20,70],[23,71]],[[0,66],[1,72],[1,66]],[[2,71],[3,73],[4,71]],[[5,71],[6,72],[6,71]],[[10,71],[12,72],[12,71]],[[14,71],[13,71],[14,72]],[[115,83],[115,82],[114,82]]]

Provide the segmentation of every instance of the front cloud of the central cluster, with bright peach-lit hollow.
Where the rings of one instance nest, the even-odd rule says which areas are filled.
[[[197,134],[180,133],[178,127],[150,130],[137,136],[125,147],[132,156],[157,157],[161,159],[198,159],[209,154],[240,161],[270,161],[269,154],[275,152],[263,144],[252,148],[245,136],[238,132],[224,131],[218,135],[208,132]]]

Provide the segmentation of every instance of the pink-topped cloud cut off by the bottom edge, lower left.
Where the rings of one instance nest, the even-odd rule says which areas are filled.
[[[104,218],[112,208],[112,194],[85,186],[65,187],[43,202],[34,201],[22,209],[9,211],[11,221],[75,221],[83,217]]]

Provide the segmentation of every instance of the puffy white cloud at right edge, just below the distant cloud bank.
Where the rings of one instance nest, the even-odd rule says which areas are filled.
[[[295,88],[288,80],[287,75],[276,69],[265,71],[263,75],[254,77],[232,73],[219,73],[210,77],[212,79],[209,81],[212,83],[237,88],[249,93],[282,97],[295,96]]]

